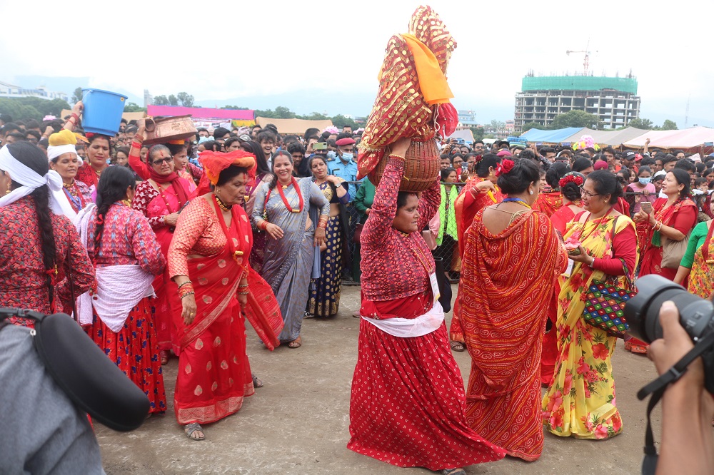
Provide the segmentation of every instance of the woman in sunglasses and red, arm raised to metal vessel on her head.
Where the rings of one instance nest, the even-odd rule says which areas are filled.
[[[140,128],[140,131],[143,128]],[[166,145],[153,145],[146,159],[139,158],[141,135],[136,133],[129,152],[129,163],[144,181],[136,185],[136,194],[131,206],[149,218],[151,228],[161,245],[164,257],[169,255],[169,245],[174,237],[178,213],[188,203],[189,183],[179,178],[174,171],[174,157]],[[161,364],[169,361],[169,350],[174,340],[174,317],[181,313],[176,283],[169,277],[169,268],[154,280],[156,292],[156,334],[159,337],[159,357]],[[175,344],[175,342],[174,342]],[[176,349],[174,348],[174,352]]]

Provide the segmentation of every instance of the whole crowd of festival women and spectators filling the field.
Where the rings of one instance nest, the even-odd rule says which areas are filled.
[[[169,407],[161,367],[178,357],[174,412],[193,440],[262,385],[245,321],[268,349],[301,347],[303,318],[337,315],[349,276],[361,283],[350,449],[446,474],[535,461],[543,426],[623,430],[618,338],[583,320],[593,282],[714,288],[714,154],[444,140],[441,174],[417,195],[398,190],[408,139],[371,183],[349,127],[201,128],[146,145],[146,121],[105,136],[84,133],[81,112],[3,119],[0,307],[74,315],[151,414]],[[458,282],[448,329],[434,257]],[[466,391],[452,351],[471,357]]]

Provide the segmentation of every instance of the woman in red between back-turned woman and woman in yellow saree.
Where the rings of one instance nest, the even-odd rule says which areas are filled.
[[[558,181],[563,205],[550,216],[550,223],[553,223],[553,228],[560,233],[560,236],[565,234],[565,225],[585,209],[580,202],[580,187],[583,186],[583,183],[585,183],[585,175],[578,172],[565,173],[565,176]],[[550,298],[550,306],[548,306],[550,325],[546,326],[543,335],[543,352],[540,355],[540,386],[542,387],[548,387],[550,384],[550,379],[553,379],[553,372],[555,372],[555,363],[558,361],[558,338],[555,322],[558,321],[560,280],[560,278],[556,279],[553,286],[553,296]]]

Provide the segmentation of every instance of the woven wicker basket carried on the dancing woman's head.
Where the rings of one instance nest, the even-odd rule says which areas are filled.
[[[369,173],[369,180],[375,186],[382,178],[387,165],[387,157],[388,155],[385,154],[379,165]],[[426,142],[413,140],[404,156],[404,176],[399,183],[399,190],[411,193],[428,190],[433,186],[440,170],[439,149],[436,146],[436,140],[433,138]]]

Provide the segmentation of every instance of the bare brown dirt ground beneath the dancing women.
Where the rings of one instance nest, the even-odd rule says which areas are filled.
[[[454,287],[456,290],[456,286]],[[454,292],[456,293],[456,292]],[[204,427],[205,441],[190,441],[174,417],[177,359],[164,367],[169,411],[130,433],[96,424],[107,474],[429,474],[401,469],[346,449],[350,384],[357,360],[359,287],[344,287],[339,314],[303,322],[303,346],[265,349],[248,328],[251,369],[264,387],[243,408]],[[447,323],[451,313],[446,316]],[[655,377],[645,357],[618,342],[613,356],[623,434],[606,441],[545,434],[540,460],[506,458],[466,467],[468,474],[635,474],[640,472],[646,402],[635,393]],[[470,359],[454,353],[464,379]],[[660,412],[654,414],[655,428]],[[655,437],[659,439],[658,432]]]

